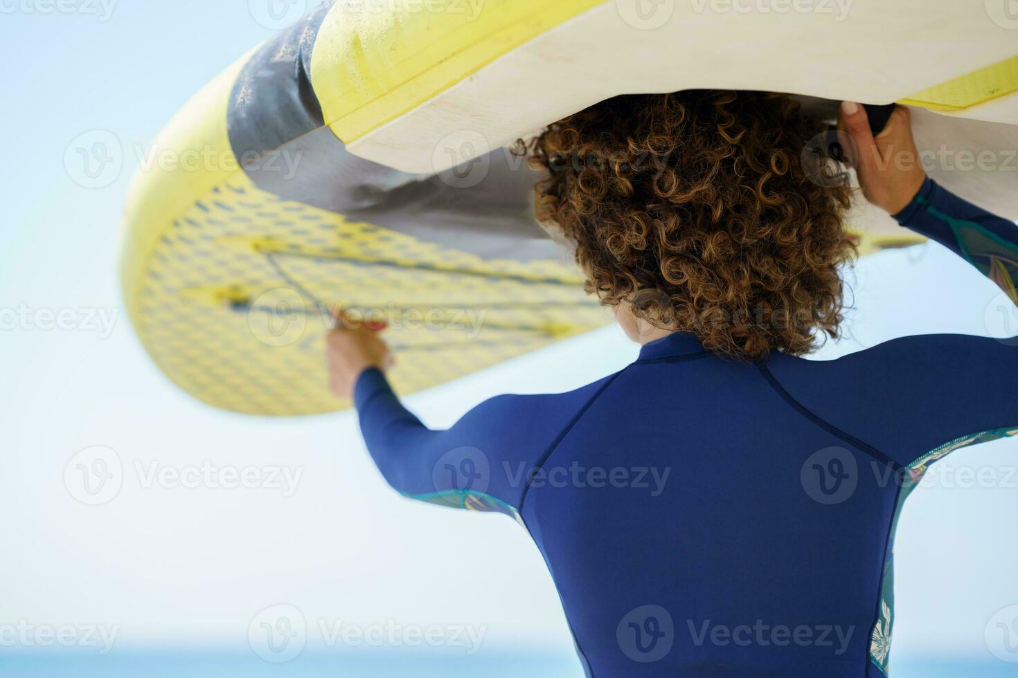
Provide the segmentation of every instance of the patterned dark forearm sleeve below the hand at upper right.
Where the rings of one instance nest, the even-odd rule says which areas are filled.
[[[1014,222],[966,202],[928,177],[894,218],[963,257],[1018,304],[1018,226]]]

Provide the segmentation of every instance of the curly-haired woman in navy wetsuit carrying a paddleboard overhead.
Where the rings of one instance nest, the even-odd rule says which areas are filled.
[[[878,138],[845,103],[865,196],[1014,298],[1018,230],[917,162],[908,111]],[[848,189],[804,167],[787,98],[620,97],[531,145],[538,215],[575,249],[639,359],[578,390],[503,395],[431,431],[370,328],[329,340],[388,482],[517,517],[588,675],[878,676],[896,517],[926,466],[1018,433],[1018,350],[910,336],[807,361],[842,321]],[[808,155],[807,155],[808,156]]]

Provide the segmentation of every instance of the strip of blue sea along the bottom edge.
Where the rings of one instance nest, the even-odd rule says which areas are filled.
[[[1014,678],[1018,664],[980,660],[912,660],[891,668],[893,678]],[[486,654],[477,657],[427,654],[343,656],[307,654],[286,664],[227,653],[137,652],[107,657],[65,653],[0,652],[4,678],[582,678],[568,654]]]

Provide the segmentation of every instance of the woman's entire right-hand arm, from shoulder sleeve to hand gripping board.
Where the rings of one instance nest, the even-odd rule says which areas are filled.
[[[852,164],[870,202],[1015,298],[1018,228],[925,176],[907,109],[896,110],[874,138],[862,107],[846,103],[841,126],[854,141]],[[836,361],[778,356],[770,369],[807,410],[913,472],[954,450],[1018,435],[1018,337],[907,336]]]

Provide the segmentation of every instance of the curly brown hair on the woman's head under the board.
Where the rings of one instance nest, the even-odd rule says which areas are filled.
[[[610,99],[517,151],[547,173],[538,219],[575,246],[587,292],[758,360],[839,334],[851,191],[803,161],[826,130],[786,96],[690,90]]]

